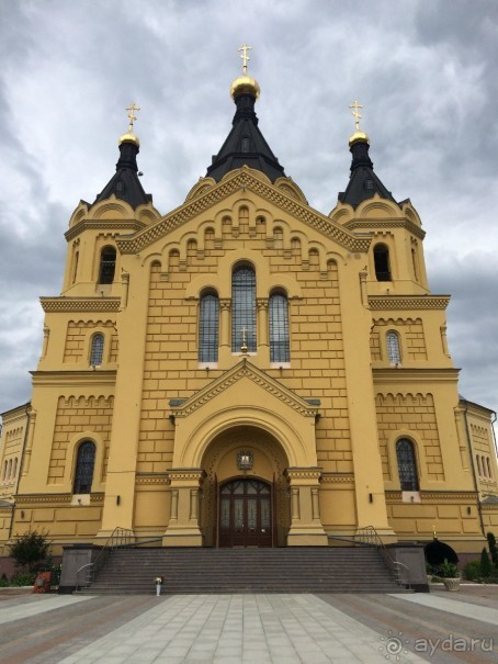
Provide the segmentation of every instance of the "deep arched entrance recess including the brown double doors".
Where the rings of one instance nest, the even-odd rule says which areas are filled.
[[[240,452],[249,452],[251,468],[240,468]],[[202,460],[204,544],[285,545],[291,526],[287,466],[282,446],[263,429],[236,426],[216,436]]]

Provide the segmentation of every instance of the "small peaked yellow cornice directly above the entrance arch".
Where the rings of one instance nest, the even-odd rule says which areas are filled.
[[[242,378],[248,378],[257,385],[260,385],[263,390],[273,396],[276,396],[279,401],[285,403],[304,417],[316,417],[319,404],[309,404],[305,399],[291,392],[291,390],[287,390],[278,381],[263,373],[260,369],[257,369],[246,359],[242,359],[241,362],[236,364],[233,369],[228,370],[220,378],[213,381],[213,383],[191,396],[185,402],[170,402],[172,414],[174,417],[186,417],[204,404],[211,402],[211,399],[222,392],[225,392],[225,390],[234,385],[234,383]]]

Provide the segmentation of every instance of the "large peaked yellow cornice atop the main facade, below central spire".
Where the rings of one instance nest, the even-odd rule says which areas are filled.
[[[283,193],[272,184],[262,182],[250,172],[250,169],[242,167],[240,170],[234,171],[233,176],[224,178],[222,182],[213,189],[210,189],[193,200],[186,201],[183,205],[173,210],[152,226],[148,226],[135,237],[129,239],[116,238],[116,244],[121,254],[137,254],[157,239],[162,238],[168,233],[171,233],[182,224],[202,214],[219,201],[223,201],[241,189],[244,191],[249,190],[252,193],[260,195],[295,218],[312,226],[319,233],[322,233],[327,237],[331,237],[336,243],[347,248],[349,251],[365,252],[369,250],[371,238],[355,237],[352,233],[343,229],[319,212],[304,205],[293,196]]]

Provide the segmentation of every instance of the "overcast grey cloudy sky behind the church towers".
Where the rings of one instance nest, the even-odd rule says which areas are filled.
[[[237,48],[253,47],[260,127],[310,205],[348,183],[348,109],[375,171],[410,198],[432,293],[449,293],[460,391],[498,409],[497,0],[0,0],[0,412],[30,399],[39,295],[60,293],[69,217],[142,108],[143,184],[161,214],[231,126]]]

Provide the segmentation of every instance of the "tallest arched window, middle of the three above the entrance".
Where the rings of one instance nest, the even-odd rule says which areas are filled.
[[[231,351],[239,352],[246,338],[249,352],[256,352],[256,272],[240,266],[231,277]]]

